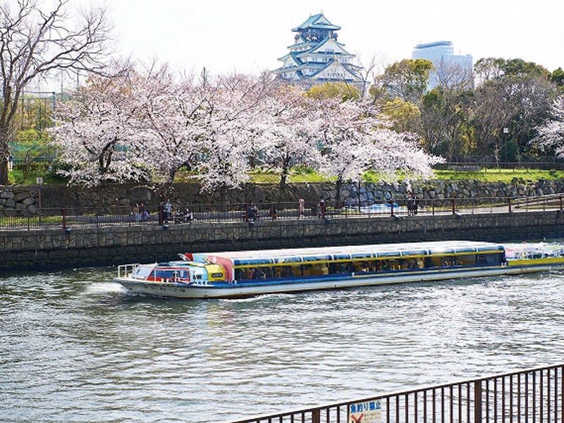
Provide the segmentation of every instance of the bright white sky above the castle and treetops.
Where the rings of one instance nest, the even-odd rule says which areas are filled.
[[[91,0],[96,1],[96,0]],[[564,68],[563,0],[107,0],[121,51],[200,73],[275,69],[292,28],[323,11],[364,62],[410,59],[420,42],[455,54],[520,58]]]

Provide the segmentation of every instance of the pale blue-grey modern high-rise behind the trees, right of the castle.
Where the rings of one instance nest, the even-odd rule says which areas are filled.
[[[435,66],[435,71],[429,74],[428,90],[437,85],[474,85],[472,76],[472,56],[459,56],[454,54],[453,43],[450,41],[437,41],[428,44],[417,44],[413,49],[412,59],[427,59]]]

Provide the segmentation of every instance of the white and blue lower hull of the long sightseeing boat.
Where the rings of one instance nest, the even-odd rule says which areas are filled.
[[[417,269],[415,271],[382,274],[353,274],[347,278],[316,280],[256,281],[252,283],[168,283],[135,278],[115,278],[129,293],[172,298],[237,298],[272,293],[295,293],[307,290],[327,290],[375,286],[393,283],[443,281],[482,276],[528,274],[561,268],[562,265],[476,266],[461,269]]]

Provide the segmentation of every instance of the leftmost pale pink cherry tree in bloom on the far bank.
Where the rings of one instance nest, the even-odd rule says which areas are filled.
[[[149,178],[140,161],[135,75],[92,75],[73,99],[59,102],[51,132],[64,164],[59,174],[87,186]]]

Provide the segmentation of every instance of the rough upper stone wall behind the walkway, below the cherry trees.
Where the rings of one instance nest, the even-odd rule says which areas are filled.
[[[525,180],[513,180],[510,184],[484,183],[477,180],[444,181],[429,180],[415,183],[357,183],[344,184],[340,198],[345,204],[356,204],[357,199],[365,202],[383,202],[391,199],[403,200],[407,192],[412,192],[422,200],[434,200],[437,207],[445,205],[450,198],[474,197],[535,197],[538,195],[564,192],[563,180],[540,180],[537,183]],[[256,204],[273,202],[296,202],[302,195],[307,204],[313,204],[324,198],[332,202],[337,192],[334,185],[324,183],[290,184],[281,194],[276,184],[247,184],[240,190],[226,193],[226,204],[244,204],[254,201]],[[131,207],[145,203],[156,207],[159,200],[170,197],[173,205],[185,204],[221,204],[218,193],[200,192],[200,185],[178,183],[175,190],[164,195],[161,185],[113,184],[104,187],[83,189],[61,185],[37,186],[0,186],[0,216],[35,216],[41,197],[42,209],[73,208],[83,212],[115,213],[115,207]],[[443,200],[445,204],[443,203]]]

